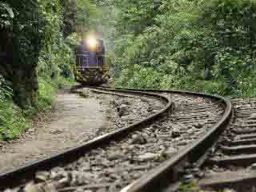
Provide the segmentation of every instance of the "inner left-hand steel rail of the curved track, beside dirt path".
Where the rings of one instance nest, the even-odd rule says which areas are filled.
[[[81,88],[81,86],[74,86],[73,89],[70,89],[70,91],[74,91],[79,88]],[[104,144],[109,143],[110,141],[122,139],[126,137],[127,133],[141,129],[142,126],[146,126],[150,122],[161,117],[161,115],[164,114],[167,110],[170,110],[172,106],[172,101],[170,100],[170,98],[162,96],[161,94],[147,93],[138,90],[112,90],[112,92],[113,91],[122,94],[135,94],[159,98],[163,102],[166,102],[166,106],[158,113],[150,115],[150,117],[144,118],[141,121],[134,122],[130,126],[114,130],[109,134],[104,134],[102,136],[99,136],[98,138],[94,138],[93,140],[86,142],[81,146],[74,147],[70,150],[65,150],[62,153],[51,156],[50,158],[44,158],[42,160],[30,162],[25,166],[21,166],[14,170],[10,170],[0,174],[0,190],[6,189],[7,187],[22,185],[22,183],[30,181],[38,170],[50,170],[50,168],[53,168],[54,166],[66,165],[70,162],[74,162],[83,154],[86,154],[86,151],[95,149],[99,146],[103,146]],[[106,93],[106,91],[102,91],[102,93],[104,94]]]

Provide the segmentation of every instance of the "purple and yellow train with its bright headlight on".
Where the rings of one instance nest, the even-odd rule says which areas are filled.
[[[110,78],[102,38],[82,38],[76,50],[74,78],[83,86],[99,86]]]

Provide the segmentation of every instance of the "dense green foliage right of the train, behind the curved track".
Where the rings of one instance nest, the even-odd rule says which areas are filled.
[[[255,1],[155,3],[114,2],[117,86],[254,94]]]

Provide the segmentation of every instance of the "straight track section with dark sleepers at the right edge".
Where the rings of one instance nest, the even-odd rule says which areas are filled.
[[[204,168],[199,182],[214,191],[256,191],[256,100],[234,99],[234,117]]]

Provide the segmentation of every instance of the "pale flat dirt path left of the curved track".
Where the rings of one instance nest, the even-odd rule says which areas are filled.
[[[67,91],[58,94],[56,110],[46,114],[46,122],[34,125],[22,138],[0,148],[0,172],[46,158],[94,138],[102,127],[110,126],[97,98],[82,98]]]

